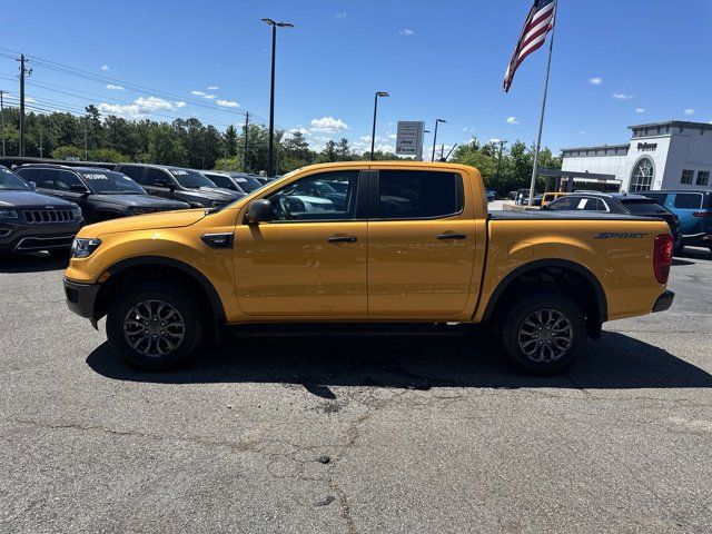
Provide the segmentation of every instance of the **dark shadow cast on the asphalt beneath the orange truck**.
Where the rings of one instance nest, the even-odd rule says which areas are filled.
[[[102,344],[87,357],[97,373],[118,380],[160,384],[287,383],[335,398],[328,386],[712,388],[712,375],[661,348],[619,333],[591,342],[587,354],[564,375],[522,374],[484,333],[443,337],[249,337],[231,338],[182,368],[132,369]]]

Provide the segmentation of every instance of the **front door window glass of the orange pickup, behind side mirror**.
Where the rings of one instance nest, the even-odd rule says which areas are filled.
[[[267,197],[275,220],[349,220],[356,217],[360,170],[320,172],[294,181]]]

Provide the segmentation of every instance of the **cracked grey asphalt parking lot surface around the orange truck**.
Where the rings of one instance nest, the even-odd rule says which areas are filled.
[[[486,334],[231,339],[149,374],[0,260],[0,532],[712,531],[712,255],[563,376]],[[102,324],[101,324],[102,326]]]

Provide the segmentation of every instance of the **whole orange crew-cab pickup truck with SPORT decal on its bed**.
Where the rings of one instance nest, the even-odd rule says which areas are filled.
[[[606,320],[671,306],[672,245],[662,219],[487,212],[473,167],[323,164],[225,207],[87,226],[65,289],[95,327],[107,316],[110,346],[141,368],[199,354],[224,326],[407,333],[483,323],[515,363],[551,374]]]

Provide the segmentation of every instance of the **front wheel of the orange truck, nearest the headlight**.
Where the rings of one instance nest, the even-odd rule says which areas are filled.
[[[188,358],[202,337],[194,298],[167,284],[141,284],[122,293],[107,315],[107,337],[135,367],[165,369]]]

